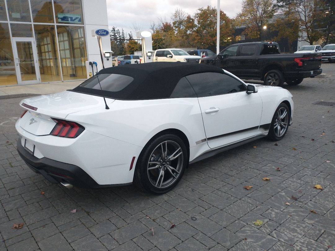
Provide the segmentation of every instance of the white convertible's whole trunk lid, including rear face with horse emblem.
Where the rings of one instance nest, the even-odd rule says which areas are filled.
[[[106,101],[111,104],[114,99]],[[18,121],[20,127],[38,136],[50,134],[56,125],[52,118],[66,119],[70,113],[96,107],[105,109],[103,97],[72,91],[26,98],[20,105],[28,110]]]

